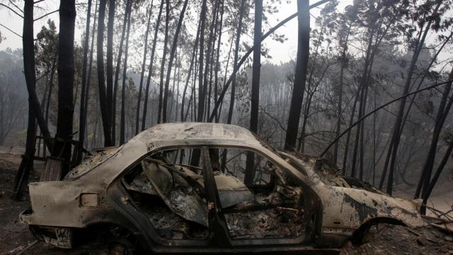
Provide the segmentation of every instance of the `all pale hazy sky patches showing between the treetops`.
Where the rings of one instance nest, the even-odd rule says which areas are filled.
[[[190,0],[193,1],[193,0]],[[270,0],[264,0],[265,3]],[[314,4],[319,0],[311,0],[310,4]],[[93,0],[93,3],[96,2],[96,0]],[[19,1],[19,3],[23,3],[23,1]],[[76,1],[76,4],[86,4],[86,0],[80,0]],[[339,6],[338,9],[340,11],[343,11],[345,6],[348,6],[349,4],[352,4],[352,0],[339,0]],[[154,3],[156,5],[156,1]],[[45,13],[55,11],[57,10],[59,6],[59,1],[58,0],[45,0],[41,1],[40,3],[36,4],[38,8],[35,8],[35,18],[38,18]],[[282,21],[284,18],[287,18],[288,16],[292,15],[295,11],[297,11],[297,1],[296,0],[287,0],[287,1],[281,1],[280,10],[278,13],[273,14],[272,16],[268,15],[269,18],[269,25],[275,26],[277,23]],[[314,8],[311,9],[311,27],[314,27],[314,18],[319,16],[319,10],[323,7]],[[19,8],[23,8],[23,6],[19,6]],[[40,9],[42,8],[42,9]],[[143,10],[140,10],[142,12]],[[452,11],[450,11],[451,13]],[[86,16],[86,13],[81,12],[78,13],[78,16]],[[251,13],[249,14],[253,16],[253,10],[251,10]],[[42,26],[46,25],[47,20],[51,18],[53,21],[55,21],[58,29],[58,23],[59,23],[59,14],[58,12],[52,13],[51,15],[42,18],[38,21],[35,22],[35,35],[38,33],[41,29]],[[118,21],[122,22],[122,21]],[[185,22],[188,27],[191,29],[195,30],[197,26],[196,21],[192,21],[190,17],[186,16],[185,17]],[[3,26],[7,26],[14,32],[18,33],[19,35],[22,34],[22,27],[23,27],[23,22],[22,18],[16,16],[16,14],[12,13],[11,11],[8,11],[6,8],[0,6],[0,24]],[[253,24],[252,24],[253,26]],[[80,45],[80,40],[81,40],[81,34],[84,30],[84,24],[76,24],[76,34],[75,34],[75,40],[76,42],[79,43]],[[139,31],[144,31],[144,28],[139,27],[139,28],[132,28],[132,30],[135,30],[135,35],[137,36]],[[263,33],[266,33],[269,30],[269,26],[265,26],[263,24]],[[22,39],[18,35],[14,35],[10,31],[6,30],[6,28],[3,28],[0,26],[0,31],[1,35],[3,37],[6,37],[6,40],[2,41],[0,43],[0,50],[4,50],[7,47],[10,47],[11,49],[16,49],[16,48],[21,48],[22,47]],[[138,31],[138,32],[137,32]],[[120,31],[117,31],[117,33],[120,33]],[[144,32],[143,32],[144,33]],[[262,60],[262,61],[270,61],[273,63],[280,63],[280,62],[287,62],[289,60],[294,60],[295,55],[296,55],[296,50],[297,50],[297,18],[292,19],[292,21],[289,21],[285,26],[282,26],[277,30],[277,33],[282,35],[284,34],[287,37],[287,41],[284,43],[281,42],[276,42],[272,40],[270,37],[264,41],[265,47],[268,47],[269,49],[269,54],[272,56],[271,60]],[[435,33],[430,33],[427,38],[427,42],[435,42]],[[195,35],[194,35],[195,37]],[[241,41],[246,40],[249,45],[253,43],[253,35],[242,35]],[[225,50],[224,52],[227,51],[229,48],[229,39],[228,36],[223,36],[222,41],[224,42],[224,47]],[[159,52],[159,49],[158,49]],[[450,57],[450,52],[452,52],[452,47],[447,46],[445,50],[442,51],[440,56],[438,57],[438,60],[440,62],[443,62],[445,60],[448,60]],[[159,57],[159,56],[158,56]],[[130,64],[131,66],[139,66],[137,62],[142,61],[142,50],[137,49],[137,52],[130,52]],[[136,65],[137,64],[137,65]],[[438,69],[443,64],[434,67],[434,69]]]

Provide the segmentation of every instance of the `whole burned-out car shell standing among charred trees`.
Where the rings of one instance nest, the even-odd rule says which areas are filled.
[[[334,252],[377,222],[425,224],[415,201],[214,123],[156,125],[29,191],[21,222],[62,248],[100,226],[127,251]]]

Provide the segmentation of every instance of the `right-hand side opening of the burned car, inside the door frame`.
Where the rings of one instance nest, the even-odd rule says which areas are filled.
[[[220,165],[214,178],[231,238],[302,235],[302,187],[290,182],[279,166],[263,154],[241,148],[212,148],[210,159],[213,169]]]

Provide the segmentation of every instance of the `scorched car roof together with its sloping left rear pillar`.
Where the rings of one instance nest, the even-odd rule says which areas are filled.
[[[103,170],[96,172],[103,176],[105,183],[110,183],[124,169],[150,152],[167,147],[195,147],[200,145],[265,149],[250,131],[236,125],[165,123],[154,125],[140,132],[125,145],[112,148],[110,153],[104,153],[105,155],[97,159],[90,159],[82,163],[69,172],[67,180],[79,178],[91,172],[91,169],[100,166]]]

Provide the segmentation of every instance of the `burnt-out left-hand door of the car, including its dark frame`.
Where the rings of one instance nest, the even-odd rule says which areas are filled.
[[[202,151],[202,147],[157,149],[126,169],[110,188],[122,214],[149,237],[149,246],[156,251],[202,248],[212,242],[208,211],[214,208],[214,193],[208,191]]]

